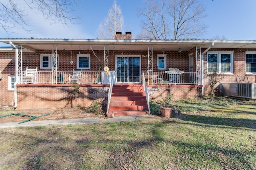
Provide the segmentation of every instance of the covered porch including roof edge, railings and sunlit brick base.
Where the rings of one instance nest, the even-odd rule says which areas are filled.
[[[143,84],[147,101],[161,100],[162,94],[167,93],[166,89],[170,87],[174,99],[198,96],[202,92],[201,45],[208,44],[181,43],[162,40],[13,39],[10,45],[16,51],[15,104],[32,99],[43,103],[44,107],[52,104],[64,106],[67,90],[75,83],[81,87],[80,106],[90,106],[97,89],[104,89],[103,103],[108,107],[113,84]],[[43,67],[44,56],[48,56],[47,68]],[[80,68],[81,56],[90,62],[88,68]],[[164,65],[159,62],[164,62]],[[26,67],[38,68],[33,83],[22,82]],[[79,82],[70,81],[74,71],[81,72]],[[46,94],[41,93],[45,91]]]

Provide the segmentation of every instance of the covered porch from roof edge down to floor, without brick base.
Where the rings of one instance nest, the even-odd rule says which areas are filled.
[[[10,44],[14,45],[12,41]],[[34,42],[34,39],[25,39],[22,42],[15,42],[14,45],[17,50],[16,75],[18,78],[16,81],[17,84],[26,84],[21,81],[21,77],[28,66],[38,68],[35,84],[73,84],[70,82],[70,75],[73,70],[80,70],[79,84],[110,84],[110,81],[119,84],[142,84],[142,73],[144,73],[148,85],[198,85],[202,84],[201,46],[205,46],[205,44],[184,43],[182,46],[176,41],[170,43],[159,40],[148,42],[106,40],[106,42],[101,42],[98,40],[57,39]],[[33,64],[26,61],[27,58],[24,54],[32,52],[40,55],[44,51],[51,55],[50,69],[43,68],[42,61],[39,59],[37,59],[38,63],[34,61]],[[162,55],[165,64],[163,68],[159,68],[158,61],[161,60],[161,57],[158,58],[159,54]],[[33,58],[39,58],[38,55]],[[80,63],[77,57],[80,55],[88,56],[91,64],[89,68],[78,66]],[[189,59],[182,61],[184,59],[178,57],[180,55]],[[129,63],[131,59],[136,62]],[[182,64],[177,64],[179,62]]]

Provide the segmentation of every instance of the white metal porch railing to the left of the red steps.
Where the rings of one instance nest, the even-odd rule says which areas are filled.
[[[72,75],[72,71],[38,71],[36,84],[68,84],[69,75]],[[101,84],[102,72],[82,71],[80,82],[81,84]]]

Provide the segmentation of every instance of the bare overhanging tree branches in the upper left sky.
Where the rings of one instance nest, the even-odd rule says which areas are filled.
[[[69,15],[72,11],[70,6],[76,4],[75,0],[4,0],[0,2],[0,28],[8,34],[14,27],[27,30],[29,18],[20,4],[26,5],[36,13],[41,12],[45,20],[50,23],[61,22],[63,25],[68,25],[78,19]]]

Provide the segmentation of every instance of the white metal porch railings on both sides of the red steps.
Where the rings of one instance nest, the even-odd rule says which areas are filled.
[[[24,72],[22,72],[24,74]],[[36,84],[68,84],[72,71],[38,71]],[[151,72],[144,74],[146,84],[199,84],[199,75],[196,72]],[[102,84],[102,72],[82,71],[81,84]]]

